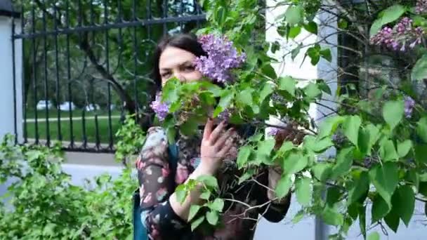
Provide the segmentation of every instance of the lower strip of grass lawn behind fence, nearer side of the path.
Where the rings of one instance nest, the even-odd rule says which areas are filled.
[[[112,138],[113,142],[115,142],[115,133],[119,129],[120,119],[115,118],[111,119],[112,124]],[[95,119],[86,119],[85,121],[85,129],[86,129],[86,138],[88,142],[96,142],[96,123]],[[46,129],[47,123],[46,121],[39,122],[37,124],[39,139],[46,140]],[[63,137],[63,141],[70,141],[70,120],[60,121],[60,129]],[[74,142],[83,142],[83,121],[81,119],[73,119],[72,120],[72,128],[74,136]],[[49,121],[49,135],[51,140],[58,140],[58,121]],[[108,143],[110,140],[110,132],[109,132],[109,124],[108,119],[98,119],[98,135],[101,143]],[[34,122],[27,122],[27,138],[36,138],[36,124]]]

